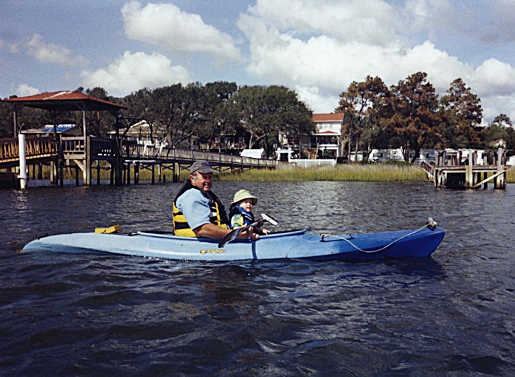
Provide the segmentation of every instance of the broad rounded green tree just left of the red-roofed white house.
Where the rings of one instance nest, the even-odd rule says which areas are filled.
[[[266,156],[279,133],[300,135],[314,132],[312,111],[299,100],[295,91],[283,86],[241,87],[234,98],[240,119],[250,133],[249,148],[262,141]]]

